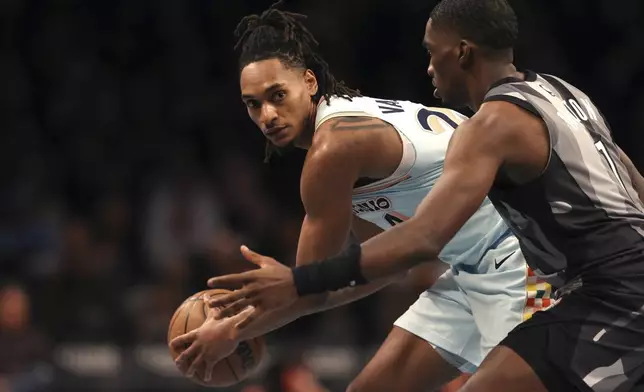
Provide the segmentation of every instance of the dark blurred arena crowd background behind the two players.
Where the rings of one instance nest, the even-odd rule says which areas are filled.
[[[338,79],[428,105],[435,3],[287,1]],[[517,64],[585,90],[644,168],[644,2],[547,3],[512,1]],[[294,260],[304,154],[262,163],[232,50],[238,20],[270,4],[0,1],[0,392],[199,390],[167,351],[175,308],[249,268],[242,243]],[[422,288],[271,334],[258,376],[229,390],[344,391]]]

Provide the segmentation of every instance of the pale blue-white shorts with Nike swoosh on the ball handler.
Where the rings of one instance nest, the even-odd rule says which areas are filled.
[[[509,235],[476,265],[452,267],[394,325],[428,342],[450,364],[473,373],[518,324],[551,305],[551,286],[527,267]]]

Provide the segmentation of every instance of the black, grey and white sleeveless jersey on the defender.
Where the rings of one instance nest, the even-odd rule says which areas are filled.
[[[561,285],[642,254],[644,206],[590,98],[557,77],[526,72],[525,80],[492,86],[485,101],[499,100],[542,118],[550,136],[541,176],[523,185],[496,184],[489,194],[530,267]]]

